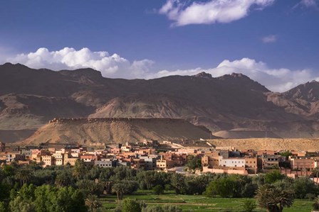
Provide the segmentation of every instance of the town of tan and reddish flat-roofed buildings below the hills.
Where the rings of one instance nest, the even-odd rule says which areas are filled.
[[[125,166],[132,169],[177,172],[180,174],[258,174],[279,169],[281,174],[296,178],[313,174],[319,166],[319,152],[236,150],[236,147],[214,147],[206,140],[182,142],[143,140],[140,143],[85,147],[82,145],[10,146],[0,143],[0,164],[36,163],[43,167],[70,165],[77,160],[98,167]],[[319,174],[319,173],[318,173]]]

